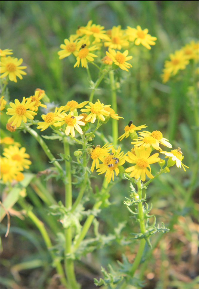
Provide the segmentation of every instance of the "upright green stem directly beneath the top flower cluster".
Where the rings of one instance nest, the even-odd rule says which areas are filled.
[[[109,79],[111,85],[111,101],[112,101],[112,109],[117,113],[117,95],[116,95],[116,87],[115,87],[115,79],[113,70],[109,71]],[[118,121],[117,119],[112,118],[112,134],[113,134],[113,145],[117,146],[118,143]]]

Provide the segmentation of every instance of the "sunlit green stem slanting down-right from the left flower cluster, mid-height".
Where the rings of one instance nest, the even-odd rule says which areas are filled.
[[[62,176],[63,174],[63,170],[61,165],[55,161],[55,158],[53,156],[53,154],[51,153],[51,151],[49,150],[47,144],[43,141],[43,139],[41,138],[41,136],[38,135],[38,133],[36,133],[35,130],[33,130],[32,128],[30,128],[29,126],[24,127],[24,129],[30,133],[32,136],[34,136],[34,138],[38,141],[38,143],[41,145],[42,149],[44,150],[44,153],[48,156],[48,158],[50,159],[50,161],[54,161],[53,165],[58,169],[60,175]]]

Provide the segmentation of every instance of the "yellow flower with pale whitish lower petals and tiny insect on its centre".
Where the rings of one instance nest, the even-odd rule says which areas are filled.
[[[67,115],[66,113],[59,114],[55,117],[55,120],[58,122],[54,123],[55,127],[61,126],[63,124],[67,124],[65,134],[68,136],[69,133],[71,136],[75,137],[75,129],[78,131],[78,133],[83,134],[83,131],[79,125],[85,125],[84,122],[81,122],[79,119],[82,119],[83,116],[74,116],[73,111],[70,111],[70,113]]]

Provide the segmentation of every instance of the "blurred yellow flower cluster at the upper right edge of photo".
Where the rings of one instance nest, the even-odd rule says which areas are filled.
[[[198,50],[199,43],[191,41],[180,50],[176,50],[174,54],[169,54],[170,60],[165,61],[163,74],[161,74],[163,83],[166,83],[171,76],[176,75],[179,70],[185,69],[191,59],[198,62]]]

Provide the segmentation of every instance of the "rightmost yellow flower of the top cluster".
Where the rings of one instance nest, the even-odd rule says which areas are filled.
[[[136,28],[137,29],[127,26],[126,33],[129,35],[129,41],[136,39],[135,45],[142,44],[147,49],[151,49],[150,45],[155,45],[154,41],[157,40],[157,37],[151,36],[148,34],[148,29],[142,30],[139,25]]]

